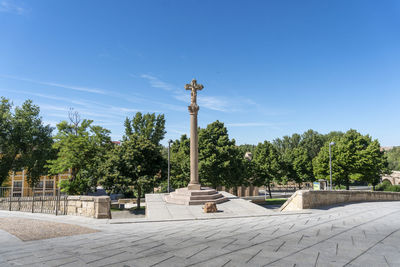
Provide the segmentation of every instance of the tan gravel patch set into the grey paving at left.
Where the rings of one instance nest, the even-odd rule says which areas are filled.
[[[0,218],[0,229],[18,237],[22,241],[40,240],[62,236],[90,234],[98,232],[73,224],[33,220],[26,218]]]

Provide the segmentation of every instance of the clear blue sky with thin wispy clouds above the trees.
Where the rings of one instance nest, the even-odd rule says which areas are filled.
[[[237,143],[357,129],[400,145],[400,1],[0,0],[0,95],[46,123],[112,131],[164,113],[168,139],[220,120]]]

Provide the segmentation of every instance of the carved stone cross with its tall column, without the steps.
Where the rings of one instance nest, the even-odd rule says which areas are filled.
[[[195,79],[185,85],[186,90],[191,90],[191,103],[188,106],[190,113],[190,182],[188,190],[200,190],[199,182],[199,151],[197,136],[197,113],[200,107],[197,105],[197,91],[202,90],[203,85],[197,84]]]

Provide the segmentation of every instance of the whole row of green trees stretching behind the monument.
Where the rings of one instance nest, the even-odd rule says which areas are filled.
[[[167,151],[163,114],[136,113],[124,122],[121,144],[112,142],[110,131],[81,119],[71,110],[68,120],[54,128],[44,125],[40,108],[27,100],[21,107],[2,97],[0,101],[0,184],[11,171],[26,169],[30,186],[40,175],[70,171],[60,183],[68,194],[86,194],[98,185],[108,193],[143,196],[154,187],[166,191]],[[383,174],[398,169],[400,149],[381,151],[379,141],[354,129],[320,134],[308,130],[257,145],[236,145],[223,122],[199,128],[199,177],[202,185],[236,189],[242,185],[266,186],[329,178],[329,143],[332,178],[337,186],[352,182],[380,182]],[[252,153],[252,160],[244,157]],[[187,135],[171,145],[171,186],[184,187],[190,177],[190,141]],[[388,161],[389,159],[389,161]]]

